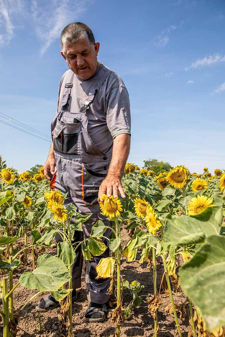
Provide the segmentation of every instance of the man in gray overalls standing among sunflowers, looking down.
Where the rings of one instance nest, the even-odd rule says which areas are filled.
[[[130,150],[129,95],[120,76],[97,61],[100,43],[95,42],[87,25],[76,22],[66,26],[60,45],[69,70],[59,84],[58,109],[51,124],[53,143],[44,172],[51,188],[68,193],[65,206],[74,203],[79,213],[92,214],[83,224],[82,235],[88,238],[98,219],[110,226],[100,213],[102,194],[117,197],[119,192],[125,198],[121,177]],[[110,229],[104,236],[109,234]],[[74,242],[81,241],[82,235],[76,232]],[[108,240],[104,243],[108,246]],[[103,321],[106,317],[110,279],[96,279],[96,265],[109,254],[108,248],[87,261],[87,321]],[[79,246],[73,265],[73,299],[81,287],[82,264]],[[50,295],[41,299],[36,309],[47,311],[56,306],[58,302]]]

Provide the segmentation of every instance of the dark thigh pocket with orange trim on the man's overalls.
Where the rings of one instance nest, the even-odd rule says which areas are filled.
[[[101,172],[107,170],[106,162],[93,163],[92,165],[95,166],[96,171],[93,171],[87,163],[82,163],[82,197],[86,205],[96,205],[98,203],[99,186],[107,176],[107,173]]]

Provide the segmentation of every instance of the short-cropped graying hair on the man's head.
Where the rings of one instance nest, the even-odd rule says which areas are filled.
[[[65,42],[76,42],[82,38],[86,38],[90,44],[95,44],[93,32],[85,23],[73,22],[68,24],[60,36],[61,50],[63,51]]]

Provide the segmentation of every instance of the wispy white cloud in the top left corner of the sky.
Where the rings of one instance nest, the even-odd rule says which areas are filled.
[[[0,47],[7,45],[14,37],[15,24],[13,20],[19,18],[24,7],[23,0],[0,0]]]

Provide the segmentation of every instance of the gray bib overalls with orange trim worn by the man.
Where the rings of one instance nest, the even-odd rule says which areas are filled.
[[[65,93],[59,102],[59,111],[55,114],[51,124],[57,171],[54,174],[50,187],[52,189],[57,188],[63,193],[68,193],[65,206],[73,203],[79,213],[84,215],[92,213],[91,218],[82,225],[83,233],[75,232],[74,242],[81,241],[83,236],[84,238],[88,238],[92,225],[98,219],[103,220],[107,226],[110,226],[109,220],[106,220],[100,213],[97,198],[99,186],[107,176],[112,150],[106,155],[98,149],[88,134],[87,128],[89,105],[110,73],[111,71],[107,71],[103,74],[95,92],[89,93],[79,112],[69,112],[67,111],[67,106],[69,99],[72,98],[71,88],[75,76],[73,74],[71,83],[65,85]],[[110,229],[106,231],[104,236],[109,237],[109,233]],[[56,240],[60,241],[60,237],[57,236]],[[108,240],[105,240],[104,243],[108,247]],[[73,289],[81,287],[83,266],[81,245],[76,250],[76,254],[73,265]],[[110,298],[107,295],[110,279],[95,279],[97,276],[96,265],[101,258],[108,257],[109,254],[108,248],[101,256],[95,256],[93,260],[87,261],[85,281],[87,298],[90,302],[104,304]]]

